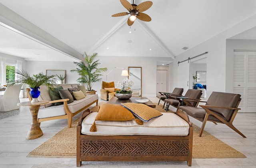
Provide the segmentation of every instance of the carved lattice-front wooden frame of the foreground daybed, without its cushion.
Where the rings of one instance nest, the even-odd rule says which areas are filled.
[[[81,133],[82,121],[90,114],[86,109],[77,125],[76,166],[82,161],[187,161],[192,164],[193,127],[188,115],[177,115],[189,123],[187,136],[118,135],[97,136]]]

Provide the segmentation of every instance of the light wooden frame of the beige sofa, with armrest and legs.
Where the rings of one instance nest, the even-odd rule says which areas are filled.
[[[28,95],[28,99],[29,99],[29,101],[32,101],[32,97],[30,96],[29,92],[30,92],[30,88],[26,88],[26,93]],[[69,101],[69,99],[59,99],[59,100],[49,101],[49,103],[63,102],[64,103],[64,111],[66,112],[66,115],[60,115],[60,116],[55,116],[55,117],[47,117],[47,118],[37,119],[39,125],[43,121],[56,120],[56,119],[67,119],[68,120],[68,128],[71,128],[71,126],[72,126],[72,118],[75,115],[77,115],[78,113],[84,111],[85,109],[90,107],[90,105],[93,105],[94,103],[96,103],[96,106],[98,106],[98,99],[97,99],[96,101],[93,101],[92,103],[90,103],[89,105],[87,105],[87,106],[83,107],[82,109],[76,111],[75,113],[72,113],[68,109],[68,101]],[[46,103],[46,104],[49,104],[49,103]],[[46,105],[46,104],[43,104],[43,105]]]

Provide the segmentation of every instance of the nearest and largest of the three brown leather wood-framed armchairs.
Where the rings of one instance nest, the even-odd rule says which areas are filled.
[[[189,116],[203,122],[199,133],[202,136],[204,126],[207,121],[214,124],[222,123],[229,126],[242,137],[246,138],[233,124],[236,114],[238,113],[238,105],[241,101],[241,95],[235,93],[212,92],[205,105],[200,107],[192,107],[189,105],[179,106],[178,109],[185,111]],[[185,100],[186,101],[186,100]],[[185,102],[184,101],[184,102]]]

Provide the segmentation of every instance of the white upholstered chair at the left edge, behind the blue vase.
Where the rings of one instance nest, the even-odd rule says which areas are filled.
[[[0,111],[6,112],[20,109],[20,89],[22,85],[7,86],[4,95],[0,95]]]

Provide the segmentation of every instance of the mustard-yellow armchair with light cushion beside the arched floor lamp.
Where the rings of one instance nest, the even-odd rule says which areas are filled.
[[[100,99],[102,100],[110,100],[112,97],[116,96],[116,91],[120,90],[120,89],[116,89],[115,88],[115,83],[113,82],[105,82],[102,81],[102,85],[101,85],[100,89]]]

